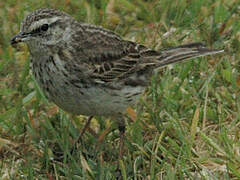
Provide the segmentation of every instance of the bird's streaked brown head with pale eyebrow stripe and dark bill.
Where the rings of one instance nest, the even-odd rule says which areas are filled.
[[[21,23],[20,32],[11,39],[11,44],[26,42],[34,45],[56,45],[71,34],[69,23],[73,19],[55,9],[38,9]]]

